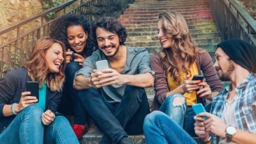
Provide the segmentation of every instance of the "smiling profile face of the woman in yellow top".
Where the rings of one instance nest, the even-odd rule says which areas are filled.
[[[173,45],[172,44],[173,38],[164,34],[162,26],[163,26],[163,22],[162,22],[162,20],[159,20],[159,22],[157,23],[158,40],[164,49],[171,48]]]

